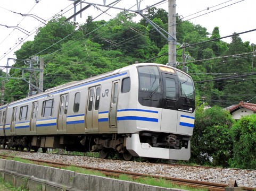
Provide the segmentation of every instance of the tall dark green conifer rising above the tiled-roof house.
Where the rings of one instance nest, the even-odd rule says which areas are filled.
[[[222,59],[222,62],[219,62],[218,64],[213,64],[213,71],[216,73],[224,73],[226,75],[241,75],[250,73],[250,58],[239,56],[239,54],[244,54],[250,51],[251,47],[249,45],[249,42],[244,43],[239,36],[233,36],[232,42],[228,45],[228,49],[225,54],[238,56],[227,57]],[[251,99],[251,95],[243,95],[241,97],[237,97],[237,94],[255,94],[256,92],[255,80],[252,79],[252,77],[250,76],[230,80],[221,80],[216,82],[214,88],[217,88],[219,91],[223,91],[224,94],[227,95],[226,97],[224,97],[224,100],[226,102],[224,106],[229,106],[230,103],[235,104],[241,100],[248,101]]]

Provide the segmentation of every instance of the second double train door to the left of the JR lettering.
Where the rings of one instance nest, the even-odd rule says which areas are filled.
[[[59,108],[59,115],[58,115],[58,124],[57,130],[59,132],[67,132],[67,114],[68,114],[68,107],[69,107],[69,94],[61,95],[60,99],[60,108]]]

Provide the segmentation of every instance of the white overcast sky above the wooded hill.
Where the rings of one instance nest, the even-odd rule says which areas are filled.
[[[141,9],[146,7],[146,5],[150,6],[160,1],[161,0],[142,0]],[[86,0],[85,2],[103,4],[103,0]],[[106,4],[112,2],[114,2],[114,0],[106,0]],[[30,32],[28,33],[24,31],[30,34],[30,36],[19,30],[8,29],[0,25],[0,66],[6,66],[7,58],[15,58],[14,51],[18,50],[24,41],[33,40],[35,30],[38,27],[43,26],[41,22],[32,17],[24,17],[20,14],[14,14],[11,11],[22,14],[34,14],[44,20],[48,20],[51,19],[53,15],[57,13],[60,14],[61,10],[63,10],[64,16],[68,18],[73,14],[72,3],[72,1],[68,0],[40,0],[39,3],[36,3],[35,0],[2,0],[0,3],[0,24],[9,27],[19,24],[19,27]],[[122,0],[115,6],[128,9],[135,4],[136,0]],[[202,25],[202,27],[207,28],[210,33],[214,27],[219,27],[221,37],[228,36],[234,32],[238,33],[256,29],[255,0],[176,0],[176,4],[176,13],[182,15],[184,20],[191,19],[189,20],[190,22]],[[82,7],[85,7],[86,5],[87,4],[82,4]],[[106,10],[105,7],[98,7],[103,11]],[[163,2],[156,7],[164,8],[168,11],[168,1]],[[208,7],[209,10],[207,10]],[[77,7],[77,11],[78,10],[79,7]],[[77,22],[79,22],[79,24],[85,23],[87,16],[92,15],[94,18],[102,13],[101,10],[97,10],[97,8],[91,6],[82,13],[81,19],[79,18],[79,15],[77,16]],[[131,8],[131,10],[136,10],[136,6]],[[114,10],[112,8],[107,13],[112,17],[115,17],[118,12],[120,12],[120,10]],[[97,20],[107,21],[111,19],[111,16],[108,14],[102,14]],[[187,17],[191,14],[194,15]],[[198,17],[194,18],[196,16]],[[244,42],[250,41],[251,43],[256,44],[255,36],[256,31],[240,35]],[[20,44],[21,38],[23,39],[23,42]],[[230,38],[222,40],[230,42]],[[9,62],[9,65],[12,65],[12,61]]]

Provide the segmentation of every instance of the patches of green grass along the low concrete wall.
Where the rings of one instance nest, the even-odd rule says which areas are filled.
[[[7,159],[8,160],[15,160],[15,161],[23,162],[23,163],[33,163],[29,160],[20,159],[18,157],[7,158]],[[45,166],[47,166],[47,164],[45,164]],[[95,175],[95,176],[106,177],[101,172],[98,172],[98,171],[95,171],[95,170],[88,170],[88,169],[84,169],[84,168],[79,168],[79,167],[75,167],[75,166],[63,167],[62,169],[74,171],[74,172],[77,172],[77,173],[83,173],[83,174],[86,174],[86,175]],[[70,181],[73,181],[73,178],[75,178],[75,177],[72,177],[70,179]],[[169,181],[166,181],[165,179],[155,179],[155,178],[151,178],[151,177],[133,179],[133,178],[127,176],[127,175],[120,175],[119,178],[117,178],[117,177],[112,177],[112,178],[119,179],[119,180],[125,180],[125,181],[133,181],[135,183],[141,183],[141,184],[146,184],[146,185],[151,185],[151,186],[159,186],[159,187],[164,187],[164,188],[178,188],[178,189],[192,190],[192,191],[206,191],[207,190],[207,189],[191,188],[191,187],[187,187],[187,186],[179,186],[179,185],[176,185],[176,184],[172,184]],[[3,181],[3,179],[2,179],[2,181]],[[0,179],[0,183],[1,183],[1,179]],[[6,183],[6,184],[8,186],[8,183]],[[6,188],[7,188],[7,186],[6,186]],[[23,189],[23,188],[17,188],[17,189],[11,188],[11,189],[3,189],[3,190],[4,191],[5,190],[6,191],[7,190],[19,190],[19,191],[22,190],[23,191],[25,189]],[[0,191],[2,191],[1,187],[0,187]]]

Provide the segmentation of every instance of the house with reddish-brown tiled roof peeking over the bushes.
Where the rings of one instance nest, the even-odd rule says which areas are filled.
[[[242,116],[255,114],[256,104],[240,101],[238,105],[228,107],[227,110],[229,110],[234,119],[240,119]]]

